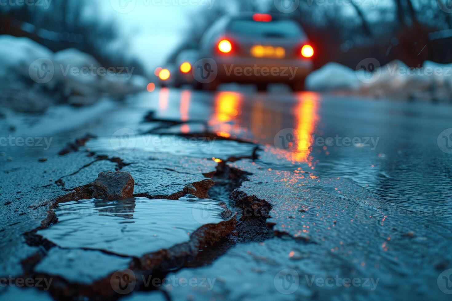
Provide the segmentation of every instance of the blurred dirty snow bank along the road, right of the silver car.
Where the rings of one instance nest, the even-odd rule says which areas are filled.
[[[452,64],[443,65],[425,61],[423,66],[411,68],[400,60],[394,60],[369,72],[329,63],[308,75],[306,88],[313,91],[341,91],[371,97],[450,102]]]

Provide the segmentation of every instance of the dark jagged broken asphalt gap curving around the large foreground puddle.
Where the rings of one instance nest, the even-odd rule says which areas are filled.
[[[232,159],[231,161],[235,161],[235,159]],[[228,166],[227,162],[221,162],[218,164],[213,176],[211,175],[215,185],[207,190],[210,199],[224,202],[223,204],[225,204],[225,206],[227,204],[227,207],[231,209],[232,213],[239,217],[238,222],[234,223],[234,225],[232,225],[231,222],[227,222],[219,229],[213,226],[201,227],[195,231],[197,233],[192,233],[192,236],[194,237],[193,240],[190,238],[190,241],[185,245],[174,245],[168,250],[160,250],[152,255],[130,257],[132,260],[129,269],[137,271],[143,278],[151,274],[153,277],[155,277],[155,275],[160,275],[160,277],[163,278],[168,273],[183,268],[194,268],[211,264],[215,259],[237,243],[263,241],[272,237],[273,232],[266,224],[267,216],[262,214],[256,215],[253,214],[252,211],[246,211],[246,209],[249,208],[244,208],[243,203],[240,203],[240,200],[236,203],[237,199],[235,199],[235,197],[237,195],[240,196],[236,191],[243,181],[247,181],[247,176],[250,176],[250,173],[231,168]],[[75,191],[67,196],[67,198],[49,202],[52,203],[50,206],[51,210],[49,211],[48,218],[42,223],[39,229],[45,229],[58,222],[52,208],[57,208],[58,204],[66,203],[71,201],[71,199],[72,201],[74,199],[86,199],[86,196],[89,194],[88,190],[89,185],[77,187]],[[264,211],[268,212],[269,208],[268,205],[268,210]],[[230,213],[229,216],[231,216],[232,213]],[[227,229],[230,229],[231,231]],[[47,239],[40,238],[40,236],[36,235],[36,232],[37,231],[27,233],[25,237],[29,245],[39,246],[40,251],[24,260],[23,267],[27,276],[41,275],[55,277],[58,285],[51,287],[50,293],[52,296],[58,299],[73,299],[80,296],[80,292],[82,292],[83,296],[94,300],[102,298],[117,299],[121,297],[121,295],[115,293],[112,294],[110,284],[108,283],[110,275],[93,283],[82,285],[80,283],[68,281],[63,277],[51,274],[46,275],[35,271],[35,267],[46,260],[46,256],[50,251],[55,250],[55,248],[61,248],[60,245],[53,244]],[[82,250],[89,250],[89,248]],[[196,250],[196,252],[187,250]],[[114,252],[108,252],[106,250],[99,251],[106,255],[116,255]],[[137,282],[135,291],[150,291],[157,289],[158,287],[152,287]]]

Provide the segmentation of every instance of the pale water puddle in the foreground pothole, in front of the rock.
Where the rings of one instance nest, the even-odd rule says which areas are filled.
[[[38,235],[62,248],[141,257],[189,241],[202,225],[222,222],[223,211],[212,199],[85,199],[60,204],[58,222]]]

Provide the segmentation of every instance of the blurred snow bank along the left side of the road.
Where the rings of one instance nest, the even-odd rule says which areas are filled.
[[[104,68],[79,50],[53,53],[26,37],[0,36],[0,65],[0,105],[22,112],[42,112],[55,103],[89,105],[146,88],[133,68]]]

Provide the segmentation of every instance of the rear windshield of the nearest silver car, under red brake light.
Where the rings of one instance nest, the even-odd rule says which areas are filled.
[[[253,20],[233,20],[229,25],[231,33],[253,37],[299,37],[301,31],[292,20],[256,22]]]

